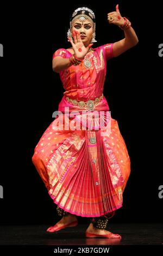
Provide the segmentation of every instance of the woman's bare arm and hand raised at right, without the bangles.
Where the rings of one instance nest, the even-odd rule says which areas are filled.
[[[110,16],[112,16],[114,20],[109,21],[109,23],[115,24],[119,27],[123,26],[124,19],[120,14],[120,11],[118,9],[118,4],[116,6],[116,11],[108,14],[108,20]],[[124,39],[114,42],[112,46],[113,57],[117,57],[123,52],[126,52],[129,48],[134,47],[139,41],[132,27],[128,28],[127,30],[124,30],[124,36],[125,36]]]

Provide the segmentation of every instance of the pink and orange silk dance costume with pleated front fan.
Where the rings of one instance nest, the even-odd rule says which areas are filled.
[[[55,56],[69,58],[71,53],[61,48]],[[86,102],[102,95],[106,60],[113,57],[112,44],[94,48],[86,57],[91,62],[90,68],[85,68],[82,62],[60,72],[65,89],[58,107],[62,115],[55,117],[43,133],[32,160],[55,204],[74,215],[97,217],[122,207],[130,159],[115,119],[110,117],[109,126],[103,130],[99,126],[96,130],[98,113],[109,112],[105,96],[93,109],[96,115],[92,129],[65,129],[65,124],[74,120],[81,124],[84,111],[91,112],[85,106],[71,104],[66,97]],[[74,118],[68,115],[72,111],[77,113]],[[106,123],[106,115],[103,119]],[[64,125],[55,130],[54,122],[59,120]]]

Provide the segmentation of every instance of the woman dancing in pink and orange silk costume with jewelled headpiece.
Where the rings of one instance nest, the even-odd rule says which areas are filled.
[[[83,216],[90,217],[86,237],[121,238],[106,230],[106,225],[122,207],[130,159],[117,121],[108,118],[103,87],[106,60],[135,46],[138,39],[118,5],[108,13],[108,21],[123,29],[124,39],[92,48],[95,14],[86,7],[76,9],[67,33],[72,47],[53,54],[53,71],[60,74],[65,92],[58,117],[43,133],[32,158],[62,217],[48,232],[75,227],[77,216]],[[89,124],[83,121],[86,115]]]

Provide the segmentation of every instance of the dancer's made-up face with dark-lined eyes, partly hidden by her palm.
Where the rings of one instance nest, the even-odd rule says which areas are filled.
[[[73,23],[72,31],[78,31],[80,33],[80,37],[83,41],[84,45],[89,45],[92,39],[93,27],[89,20],[85,20],[84,22],[79,19]]]

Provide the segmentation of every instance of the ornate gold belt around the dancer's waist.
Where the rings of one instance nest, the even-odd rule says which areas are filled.
[[[96,98],[95,100],[88,100],[88,101],[83,101],[83,100],[74,100],[74,99],[70,99],[70,97],[66,97],[66,100],[68,102],[70,102],[71,104],[73,104],[74,106],[79,106],[79,107],[86,107],[89,110],[93,110],[95,108],[95,106],[98,104],[99,101],[101,101],[103,98],[103,94],[102,96],[100,96],[99,98]]]

